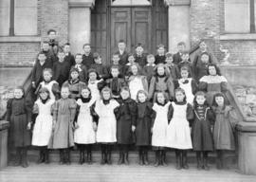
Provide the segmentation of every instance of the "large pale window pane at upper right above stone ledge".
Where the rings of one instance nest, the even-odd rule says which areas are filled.
[[[249,33],[249,0],[225,0],[225,31]]]

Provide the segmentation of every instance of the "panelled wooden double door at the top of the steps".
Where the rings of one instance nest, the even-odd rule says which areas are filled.
[[[152,52],[151,8],[112,8],[111,9],[111,50],[124,40],[129,52],[141,43],[145,52]]]

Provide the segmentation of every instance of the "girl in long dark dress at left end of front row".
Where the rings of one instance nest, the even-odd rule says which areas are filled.
[[[16,148],[15,166],[27,168],[27,147],[30,145],[31,104],[25,99],[22,87],[14,89],[14,99],[7,104],[7,120],[10,123],[10,134]]]

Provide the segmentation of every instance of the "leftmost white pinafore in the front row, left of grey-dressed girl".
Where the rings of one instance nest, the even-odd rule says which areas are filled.
[[[39,114],[35,120],[33,129],[32,145],[46,146],[52,133],[51,106],[54,100],[47,100],[44,104],[41,100],[36,100]]]

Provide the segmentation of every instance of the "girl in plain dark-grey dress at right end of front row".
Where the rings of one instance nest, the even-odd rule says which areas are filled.
[[[213,141],[217,152],[216,165],[217,169],[222,169],[225,164],[225,151],[235,150],[234,126],[237,123],[237,117],[233,108],[227,104],[222,93],[214,95],[212,109],[215,114]]]

